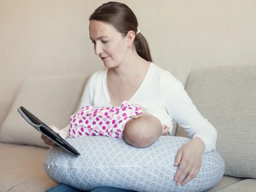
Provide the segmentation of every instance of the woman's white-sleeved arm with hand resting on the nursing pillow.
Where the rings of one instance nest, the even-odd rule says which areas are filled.
[[[198,175],[203,153],[215,150],[217,131],[199,113],[180,81],[170,73],[164,75],[161,79],[161,93],[166,110],[192,138],[178,150],[174,163],[174,166],[178,166],[174,177],[176,185],[185,185]]]

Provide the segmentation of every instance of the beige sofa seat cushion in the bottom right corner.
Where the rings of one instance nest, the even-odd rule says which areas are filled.
[[[256,179],[244,179],[217,192],[255,192]]]

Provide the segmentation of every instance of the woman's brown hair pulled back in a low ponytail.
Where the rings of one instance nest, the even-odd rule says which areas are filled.
[[[125,4],[118,2],[108,2],[99,6],[89,20],[98,20],[112,25],[123,36],[129,31],[137,33],[138,21],[134,12]],[[138,33],[134,38],[136,52],[146,61],[151,61],[150,49],[145,37]]]

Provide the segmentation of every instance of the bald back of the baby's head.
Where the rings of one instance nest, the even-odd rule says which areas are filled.
[[[123,131],[125,141],[138,148],[150,146],[161,134],[160,120],[150,113],[132,116],[125,124]]]

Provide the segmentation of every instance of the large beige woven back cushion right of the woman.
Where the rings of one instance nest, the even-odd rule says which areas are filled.
[[[225,174],[256,178],[256,66],[192,70],[186,91],[217,129]],[[178,128],[176,136],[187,136]]]

